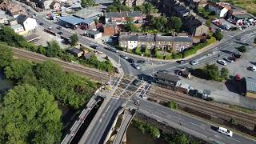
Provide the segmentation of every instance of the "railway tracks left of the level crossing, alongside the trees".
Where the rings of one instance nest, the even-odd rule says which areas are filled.
[[[70,62],[64,62],[57,58],[48,58],[42,54],[33,53],[30,51],[13,48],[13,53],[15,57],[25,58],[26,60],[36,61],[36,62],[45,62],[45,61],[53,61],[58,63],[62,68],[66,71],[74,72],[79,75],[85,76],[87,78],[91,78],[98,82],[107,82],[110,80],[110,74],[107,74],[102,71],[86,68],[84,66],[79,66],[77,64],[73,64]]]

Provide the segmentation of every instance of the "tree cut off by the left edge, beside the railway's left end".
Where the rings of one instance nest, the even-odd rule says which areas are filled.
[[[0,69],[9,66],[13,61],[13,51],[9,46],[0,44]]]

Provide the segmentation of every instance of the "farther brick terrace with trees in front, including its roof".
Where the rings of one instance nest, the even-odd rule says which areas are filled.
[[[124,11],[124,12],[109,12],[105,14],[106,24],[124,24],[128,20],[133,22],[142,22],[143,14],[140,11]]]

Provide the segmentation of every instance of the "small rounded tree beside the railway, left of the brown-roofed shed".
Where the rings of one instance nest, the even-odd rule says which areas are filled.
[[[62,53],[62,50],[61,50],[61,47],[58,45],[58,42],[56,41],[48,42],[48,46],[46,49],[47,57],[57,57],[61,53]]]

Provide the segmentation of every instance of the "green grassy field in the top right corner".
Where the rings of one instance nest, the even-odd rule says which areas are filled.
[[[240,6],[245,10],[248,10],[250,14],[256,16],[256,1],[255,0],[222,0],[222,2],[229,2],[234,6]]]

